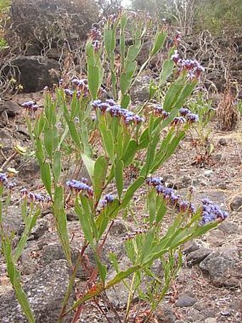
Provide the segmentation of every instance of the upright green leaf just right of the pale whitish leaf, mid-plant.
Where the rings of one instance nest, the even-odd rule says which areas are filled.
[[[95,161],[93,173],[93,190],[95,196],[95,203],[98,203],[102,195],[102,189],[105,185],[107,174],[108,160],[105,156],[99,156]]]

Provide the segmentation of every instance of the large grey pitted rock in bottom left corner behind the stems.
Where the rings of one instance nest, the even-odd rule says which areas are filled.
[[[23,284],[36,323],[57,322],[61,312],[61,304],[68,287],[70,270],[65,260],[51,262],[50,265],[36,272],[29,282]],[[73,303],[73,292],[70,295],[70,304]],[[0,297],[2,323],[28,322],[21,312],[14,292]],[[70,316],[64,322],[70,322]]]

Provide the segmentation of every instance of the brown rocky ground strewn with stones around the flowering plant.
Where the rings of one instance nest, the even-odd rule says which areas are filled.
[[[16,182],[18,188],[39,191],[43,188],[38,176],[38,164],[33,158],[21,157],[14,153],[14,145],[28,145],[29,138],[22,120],[18,103],[26,99],[39,100],[38,94],[28,97],[17,96],[14,101],[0,105],[1,163],[19,170]],[[197,150],[193,140],[186,138],[164,168],[159,172],[167,182],[177,186],[181,195],[189,190],[194,192],[195,201],[208,197],[229,211],[230,217],[216,230],[199,240],[184,246],[184,265],[176,282],[172,285],[164,301],[150,322],[241,322],[242,321],[242,134],[216,131],[212,124],[211,143],[214,147],[211,158],[203,165],[196,165]],[[131,179],[130,179],[131,180]],[[139,195],[137,195],[139,199]],[[18,237],[23,232],[23,223],[16,198],[11,212],[4,218],[4,225],[16,231]],[[130,219],[130,227],[133,223]],[[79,222],[68,213],[73,260],[83,242]],[[125,262],[122,237],[127,232],[122,218],[115,221],[107,240],[106,250],[115,249],[120,262]],[[90,262],[94,262],[88,250]],[[105,257],[105,256],[104,256]],[[61,309],[61,299],[68,284],[69,270],[61,246],[58,243],[54,220],[46,208],[38,219],[19,261],[23,287],[36,315],[36,322],[54,323]],[[85,270],[78,272],[78,285],[86,279]],[[70,302],[75,298],[71,294]],[[90,302],[83,311],[80,322],[123,322],[127,291],[122,284],[100,298],[98,308]],[[132,304],[130,322],[142,322],[147,305],[139,299]],[[119,321],[120,320],[120,321]],[[0,322],[26,322],[14,292],[6,277],[6,265],[0,256]],[[65,322],[70,322],[70,317]]]

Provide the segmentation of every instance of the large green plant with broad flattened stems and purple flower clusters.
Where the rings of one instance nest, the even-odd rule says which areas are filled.
[[[65,314],[76,309],[73,319],[75,322],[84,302],[115,284],[125,282],[130,276],[132,283],[128,287],[125,322],[136,292],[139,292],[142,299],[150,302],[151,316],[181,267],[181,246],[184,242],[216,227],[227,216],[208,200],[196,208],[190,201],[182,200],[174,190],[166,188],[162,178],[154,177],[153,174],[174,153],[186,131],[198,121],[198,116],[183,106],[194,91],[202,68],[194,61],[181,62],[177,79],[169,85],[162,103],[151,106],[145,114],[132,111],[129,91],[135,81],[136,58],[142,48],[142,37],[147,26],[134,30],[135,41],[126,48],[124,37],[127,22],[126,14],[115,20],[109,19],[104,27],[103,43],[102,34],[96,29],[92,31],[86,45],[87,80],[74,79],[73,89],[64,89],[60,85],[55,94],[46,89],[43,110],[32,102],[23,104],[41,168],[41,179],[56,219],[58,237],[72,269],[59,322]],[[136,24],[142,26],[139,20]],[[120,31],[120,74],[115,70],[114,62],[117,30]],[[166,36],[165,31],[157,32],[149,58],[142,69],[162,48]],[[105,57],[102,57],[102,46]],[[171,54],[173,52],[174,48]],[[171,75],[174,62],[178,63],[171,55],[164,61],[161,83]],[[102,88],[105,66],[110,67],[113,93],[113,98],[108,99],[103,98]],[[117,93],[119,88],[120,93]],[[34,124],[31,123],[32,114],[36,115]],[[137,178],[125,187],[125,170],[140,153],[143,159]],[[89,178],[80,179],[73,175],[72,178],[63,180],[63,164],[68,155],[81,159]],[[114,185],[116,193],[110,194],[110,188]],[[125,213],[130,211],[133,198],[142,188],[145,188],[144,211],[147,216],[137,219],[137,230],[127,232],[124,237],[129,259],[129,265],[125,269],[120,269],[115,252],[110,253],[112,268],[116,272],[114,277],[110,277],[107,264],[102,260],[103,246],[115,219],[119,215],[125,217]],[[33,200],[38,200],[36,195],[33,195]],[[71,258],[67,230],[66,212],[70,207],[78,215],[85,237],[75,264]],[[166,219],[167,213],[171,213],[171,224],[167,232],[164,232],[162,221]],[[67,309],[75,275],[88,246],[93,249],[95,265],[90,268],[90,278],[80,296]],[[164,270],[164,280],[158,279],[152,270],[152,265],[157,260]],[[142,288],[142,278],[146,276],[152,277],[152,288]]]

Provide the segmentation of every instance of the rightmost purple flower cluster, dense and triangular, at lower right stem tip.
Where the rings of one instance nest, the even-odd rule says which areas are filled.
[[[214,204],[208,198],[201,200],[201,222],[200,225],[206,225],[215,220],[225,220],[228,217],[228,212],[221,210],[219,205]]]

